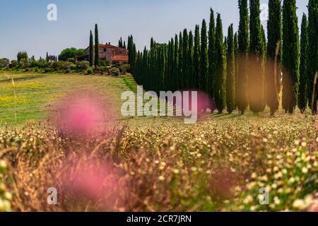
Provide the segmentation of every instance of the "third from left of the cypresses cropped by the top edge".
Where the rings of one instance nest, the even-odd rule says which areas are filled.
[[[266,49],[266,104],[275,114],[279,107],[279,91],[281,83],[281,44],[276,59],[276,48],[282,39],[281,0],[269,0],[269,20],[267,21],[267,49]],[[275,69],[275,59],[277,65]]]

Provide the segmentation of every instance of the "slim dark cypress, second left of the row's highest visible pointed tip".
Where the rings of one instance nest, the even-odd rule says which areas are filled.
[[[200,78],[200,28],[196,25],[194,31],[194,54],[193,54],[193,66],[194,66],[194,81],[193,85],[195,89],[199,89]]]

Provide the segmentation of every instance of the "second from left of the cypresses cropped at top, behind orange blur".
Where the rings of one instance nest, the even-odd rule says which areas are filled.
[[[259,0],[249,0],[249,109],[257,114],[264,110],[264,44],[261,34]]]

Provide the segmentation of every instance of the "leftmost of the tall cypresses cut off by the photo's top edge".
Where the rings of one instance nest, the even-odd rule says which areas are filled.
[[[249,11],[247,0],[238,1],[240,8],[240,23],[238,30],[238,73],[237,73],[237,107],[241,114],[247,108],[247,57],[249,50]]]

